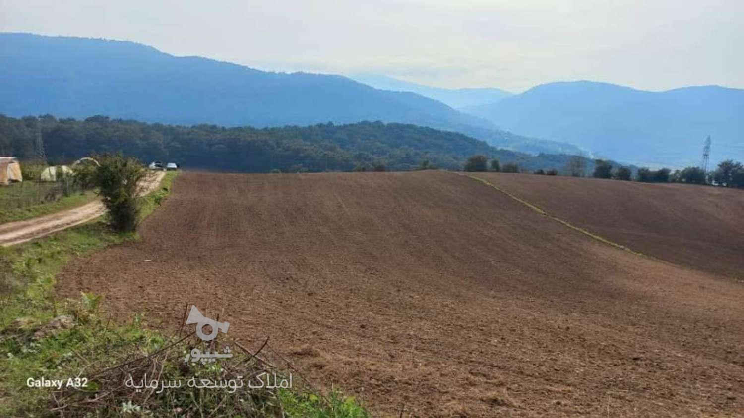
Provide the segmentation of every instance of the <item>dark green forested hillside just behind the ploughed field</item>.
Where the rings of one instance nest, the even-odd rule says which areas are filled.
[[[92,152],[123,151],[143,161],[167,160],[185,168],[232,172],[415,169],[423,161],[461,169],[472,154],[484,154],[522,169],[562,169],[569,157],[493,148],[448,131],[400,123],[332,123],[307,127],[225,128],[217,125],[163,125],[109,117],[86,120],[45,116],[16,119],[0,115],[0,154],[33,159],[40,123],[48,158],[64,163]],[[591,162],[587,162],[591,165]]]

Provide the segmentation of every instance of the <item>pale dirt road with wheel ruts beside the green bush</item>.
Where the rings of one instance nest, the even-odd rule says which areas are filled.
[[[164,172],[150,173],[144,183],[142,194],[146,195],[157,189],[164,175]],[[100,200],[94,200],[77,208],[29,219],[28,221],[3,223],[0,224],[0,245],[11,246],[41,238],[62,229],[92,221],[104,213],[106,213],[106,208],[103,203]]]

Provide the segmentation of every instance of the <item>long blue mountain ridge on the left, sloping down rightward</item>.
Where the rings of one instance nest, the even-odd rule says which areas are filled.
[[[134,42],[0,33],[0,113],[106,115],[144,122],[257,128],[375,121],[457,131],[516,151],[572,152],[568,144],[499,131],[419,94],[344,76],[270,73]]]

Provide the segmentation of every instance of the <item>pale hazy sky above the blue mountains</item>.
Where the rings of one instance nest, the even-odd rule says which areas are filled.
[[[450,88],[744,88],[744,0],[0,0],[0,31]]]

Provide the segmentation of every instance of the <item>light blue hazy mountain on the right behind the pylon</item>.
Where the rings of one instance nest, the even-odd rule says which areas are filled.
[[[711,162],[744,160],[744,90],[735,88],[653,92],[554,82],[464,111],[508,131],[566,141],[631,163],[698,165],[709,134]]]

